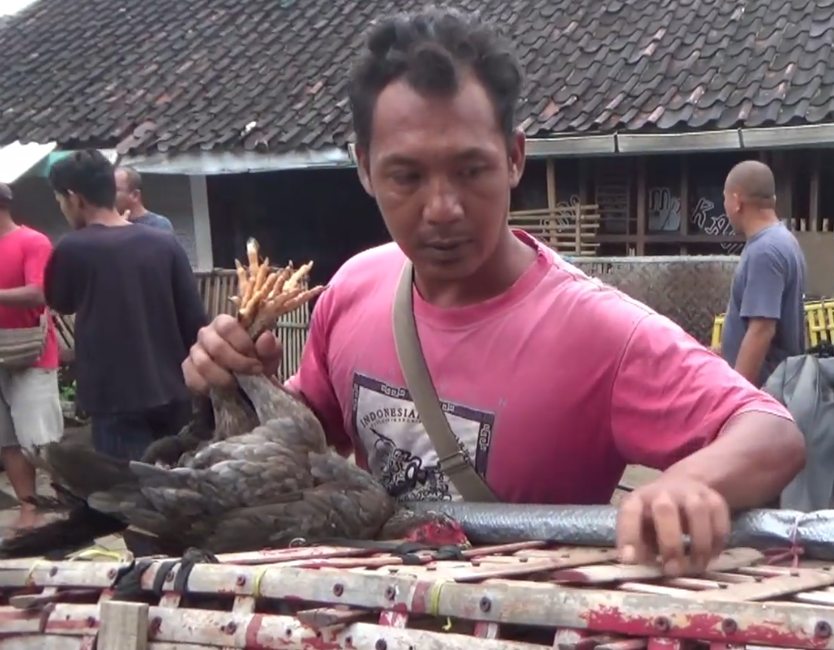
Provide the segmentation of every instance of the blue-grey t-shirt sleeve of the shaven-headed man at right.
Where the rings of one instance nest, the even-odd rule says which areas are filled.
[[[785,293],[785,259],[772,246],[751,249],[740,314],[743,319],[779,319]]]

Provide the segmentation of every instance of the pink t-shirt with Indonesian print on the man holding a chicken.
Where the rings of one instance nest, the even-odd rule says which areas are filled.
[[[437,309],[414,293],[417,330],[447,418],[477,472],[512,503],[608,503],[627,463],[665,469],[730,416],[790,418],[676,324],[558,255],[506,293]],[[301,391],[337,448],[407,500],[458,497],[397,362],[391,307],[405,257],[360,253],[318,300]]]

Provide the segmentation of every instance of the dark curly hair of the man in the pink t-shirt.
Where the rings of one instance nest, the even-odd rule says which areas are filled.
[[[498,124],[509,139],[523,72],[512,42],[492,25],[455,9],[431,6],[390,16],[371,27],[366,49],[349,86],[357,145],[370,145],[374,107],[397,79],[424,96],[452,96],[461,75],[471,73],[492,99]]]

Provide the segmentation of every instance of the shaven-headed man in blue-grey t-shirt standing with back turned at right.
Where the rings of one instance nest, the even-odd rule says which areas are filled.
[[[747,244],[721,333],[721,356],[761,387],[784,359],[805,352],[805,256],[776,214],[773,172],[758,160],[732,168],[724,209]]]

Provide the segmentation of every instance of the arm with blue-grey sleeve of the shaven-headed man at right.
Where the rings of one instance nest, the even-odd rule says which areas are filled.
[[[740,316],[747,321],[741,340],[736,371],[755,386],[770,349],[782,313],[785,293],[785,260],[773,248],[757,250],[747,262],[747,279],[741,298]]]

